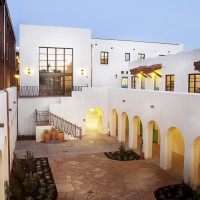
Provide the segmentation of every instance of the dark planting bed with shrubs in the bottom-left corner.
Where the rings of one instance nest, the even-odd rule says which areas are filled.
[[[27,151],[25,159],[13,161],[10,184],[5,183],[10,200],[56,200],[57,190],[47,158],[34,158]]]

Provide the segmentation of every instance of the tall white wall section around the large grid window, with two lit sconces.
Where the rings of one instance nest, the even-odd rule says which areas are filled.
[[[89,29],[20,25],[20,85],[39,85],[39,47],[73,48],[73,85],[90,85],[90,40]]]

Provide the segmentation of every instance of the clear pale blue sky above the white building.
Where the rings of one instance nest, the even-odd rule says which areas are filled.
[[[89,28],[93,38],[181,43],[200,49],[200,0],[7,0],[19,24]]]

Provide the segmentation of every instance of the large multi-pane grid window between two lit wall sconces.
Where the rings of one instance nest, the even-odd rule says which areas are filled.
[[[73,49],[40,47],[39,70],[41,96],[71,95]]]

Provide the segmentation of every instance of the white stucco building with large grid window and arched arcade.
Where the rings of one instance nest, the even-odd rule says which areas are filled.
[[[199,184],[200,50],[182,50],[22,25],[19,134],[34,135],[35,110],[49,110],[83,135],[110,132],[138,150],[143,140],[145,158]]]

